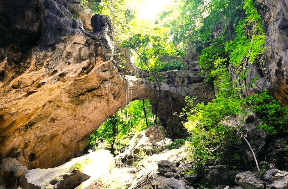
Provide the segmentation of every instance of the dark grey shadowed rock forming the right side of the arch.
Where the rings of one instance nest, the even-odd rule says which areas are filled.
[[[161,83],[161,99],[157,106],[157,113],[162,125],[168,129],[170,138],[188,136],[186,129],[181,124],[185,120],[174,115],[175,112],[181,112],[183,105],[186,105],[183,97],[186,95],[195,97],[195,103],[211,101],[214,98],[211,87],[204,82],[205,77],[200,75],[200,71],[198,61],[194,61],[191,65],[188,65],[188,69],[160,73],[163,74],[166,80]],[[156,99],[154,96],[154,99],[150,101],[152,108],[154,108],[152,109],[153,113],[156,109]]]

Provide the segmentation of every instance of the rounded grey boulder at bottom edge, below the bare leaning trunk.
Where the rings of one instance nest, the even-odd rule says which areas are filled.
[[[251,171],[237,174],[235,182],[244,189],[264,189],[264,182]]]

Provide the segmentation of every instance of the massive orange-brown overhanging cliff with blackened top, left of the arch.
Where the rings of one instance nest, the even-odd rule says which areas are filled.
[[[3,9],[11,6],[0,4]],[[43,4],[39,1],[37,5],[40,15],[32,17],[43,18],[39,20],[39,45],[27,51],[15,49],[14,45],[13,49],[19,51],[11,57],[12,47],[7,44],[10,41],[1,41],[2,47],[6,46],[2,49],[0,63],[0,69],[5,70],[0,83],[0,154],[1,158],[15,156],[29,169],[60,165],[81,151],[88,142],[88,135],[97,129],[95,125],[118,109],[108,105],[117,99],[113,98],[115,92],[110,94],[109,103],[101,98],[108,94],[108,85],[125,85],[120,75],[114,77],[118,71],[110,66],[113,41],[107,36],[108,28],[102,33],[85,35],[81,22],[68,17],[71,14],[65,1],[47,0]],[[29,18],[27,25],[35,25]],[[16,22],[11,27],[17,31],[20,26]],[[22,48],[21,43],[17,48]],[[117,79],[113,81],[113,78]],[[95,97],[100,98],[96,100]],[[88,102],[94,104],[92,109]],[[121,100],[119,102],[121,104]],[[94,110],[107,105],[107,112]],[[98,118],[95,120],[95,117]]]

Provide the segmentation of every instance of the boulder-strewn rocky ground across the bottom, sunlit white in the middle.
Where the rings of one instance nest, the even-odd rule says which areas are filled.
[[[0,170],[2,177],[21,177],[19,182],[23,189],[288,188],[288,172],[268,164],[260,172],[253,168],[252,171],[229,170],[230,179],[233,179],[230,183],[227,173],[219,166],[207,167],[206,175],[201,171],[191,171],[195,170],[195,165],[187,158],[189,151],[185,146],[167,149],[171,142],[163,127],[153,126],[143,134],[135,135],[127,150],[114,158],[108,150],[100,150],[74,158],[59,167],[29,171],[15,158],[9,158],[2,163]],[[2,188],[15,186],[8,184]]]

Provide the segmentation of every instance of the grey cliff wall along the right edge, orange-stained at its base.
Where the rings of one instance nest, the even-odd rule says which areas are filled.
[[[266,27],[266,63],[261,67],[262,77],[271,83],[271,93],[283,104],[288,104],[288,2],[286,0],[258,0],[266,6],[259,11]]]

